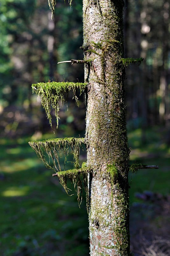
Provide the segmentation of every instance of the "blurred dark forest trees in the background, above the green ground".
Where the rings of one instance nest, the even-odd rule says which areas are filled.
[[[125,3],[124,57],[144,58],[142,65],[126,70],[129,129],[162,125],[169,131],[169,8],[166,0]],[[84,82],[83,65],[57,65],[83,59],[82,3],[73,2],[70,9],[59,0],[51,20],[46,0],[2,0],[0,28],[0,131],[8,136],[44,132],[49,126],[31,84]],[[72,114],[61,109],[59,127],[67,129],[68,123],[69,129],[84,132],[80,109]]]

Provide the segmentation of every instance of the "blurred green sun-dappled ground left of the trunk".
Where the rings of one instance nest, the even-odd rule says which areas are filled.
[[[0,139],[0,255],[88,255],[84,191],[79,208],[77,195],[67,196],[29,140]],[[67,185],[74,190],[69,180]]]

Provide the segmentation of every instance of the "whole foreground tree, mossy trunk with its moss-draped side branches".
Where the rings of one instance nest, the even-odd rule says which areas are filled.
[[[54,12],[55,1],[49,1]],[[58,125],[59,100],[65,92],[84,92],[87,99],[85,138],[63,138],[32,141],[30,145],[47,168],[52,168],[68,192],[67,179],[74,182],[81,202],[83,177],[89,214],[90,255],[128,256],[129,196],[128,172],[136,172],[146,165],[129,167],[129,153],[125,118],[125,68],[142,59],[124,59],[123,0],[83,0],[83,52],[85,83],[38,83],[34,91],[41,96],[42,105],[51,123],[50,105],[55,109]],[[51,123],[52,124],[52,123]],[[87,162],[79,166],[82,144],[87,148]],[[65,160],[71,149],[74,169],[62,171],[60,155]],[[50,165],[45,154],[52,159]]]

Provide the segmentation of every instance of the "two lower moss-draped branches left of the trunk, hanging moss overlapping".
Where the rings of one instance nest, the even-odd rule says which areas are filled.
[[[61,185],[66,190],[67,194],[68,191],[71,190],[67,187],[67,180],[71,180],[72,184],[74,184],[74,189],[77,192],[78,202],[81,204],[82,199],[82,182],[81,182],[81,175],[83,178],[84,188],[86,193],[87,190],[87,173],[89,172],[88,167],[86,167],[86,163],[82,164],[80,168],[79,165],[79,153],[80,147],[82,144],[85,144],[84,138],[57,138],[57,139],[50,139],[50,140],[37,140],[37,141],[30,141],[29,145],[35,150],[37,156],[42,160],[47,168],[53,169],[60,180]],[[73,153],[74,158],[74,169],[61,171],[59,159],[64,156],[65,163],[67,162],[67,156],[70,152]],[[46,154],[49,158],[49,161],[46,160]],[[50,160],[53,162],[53,166],[50,164]]]

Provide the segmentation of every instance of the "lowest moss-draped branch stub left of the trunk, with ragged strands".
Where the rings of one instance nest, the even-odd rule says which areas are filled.
[[[69,190],[71,190],[67,187],[67,180],[68,179],[71,180],[71,183],[74,184],[74,189],[77,192],[77,201],[79,204],[81,204],[81,200],[82,200],[81,175],[83,178],[85,191],[87,192],[87,173],[88,173],[87,167],[80,168],[80,169],[67,170],[67,171],[57,173],[60,183],[63,186],[63,188],[65,189],[67,194],[68,194]]]

